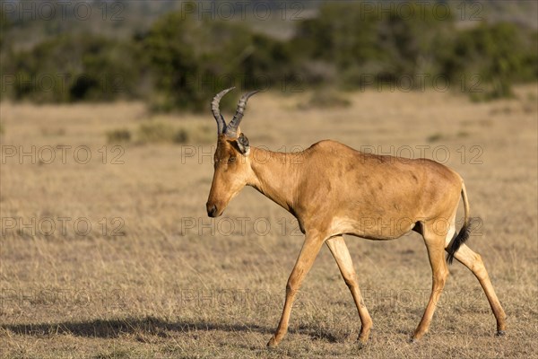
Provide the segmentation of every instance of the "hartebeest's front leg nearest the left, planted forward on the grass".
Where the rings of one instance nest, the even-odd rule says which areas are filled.
[[[314,259],[317,257],[317,253],[321,249],[325,238],[316,234],[307,233],[303,246],[299,253],[299,258],[295,262],[295,267],[291,271],[288,284],[286,285],[286,301],[284,302],[284,310],[282,311],[282,317],[278,328],[274,332],[273,337],[267,343],[267,346],[278,346],[282,338],[288,331],[288,324],[290,321],[291,305],[295,300],[295,295],[299,291],[300,285],[303,279],[307,276],[308,271],[314,263]]]

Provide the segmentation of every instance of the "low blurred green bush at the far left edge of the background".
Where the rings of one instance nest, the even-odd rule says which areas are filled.
[[[61,35],[13,53],[2,66],[3,86],[15,101],[132,99],[142,77],[139,51],[100,35]]]

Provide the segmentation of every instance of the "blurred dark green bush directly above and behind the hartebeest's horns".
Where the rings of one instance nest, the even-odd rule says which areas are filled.
[[[207,109],[215,92],[240,83],[263,88],[293,74],[287,45],[241,22],[169,13],[143,39],[155,76],[154,109]],[[224,107],[233,101],[225,98]]]

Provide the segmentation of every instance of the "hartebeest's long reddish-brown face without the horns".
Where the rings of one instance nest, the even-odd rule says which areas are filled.
[[[239,138],[247,138],[241,136]],[[239,140],[220,135],[214,154],[213,183],[207,198],[207,215],[218,217],[239,191],[247,185],[250,175],[248,153],[241,153]]]

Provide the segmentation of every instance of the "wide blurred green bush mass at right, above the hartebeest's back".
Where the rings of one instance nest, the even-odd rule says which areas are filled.
[[[317,17],[299,24],[291,40],[297,55],[335,68],[335,75],[318,78],[331,77],[351,89],[394,83],[421,89],[441,78],[484,100],[509,96],[512,83],[538,78],[536,31],[506,22],[457,29],[450,13],[439,19],[435,3],[410,4],[414,16],[397,7],[364,9],[326,3]]]

